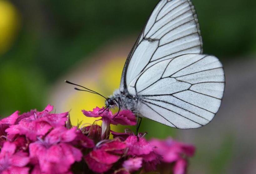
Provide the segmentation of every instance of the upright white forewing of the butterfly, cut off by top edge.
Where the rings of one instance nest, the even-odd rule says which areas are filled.
[[[192,3],[160,1],[127,58],[120,89],[126,89],[131,80],[156,62],[185,53],[202,53],[202,45]]]

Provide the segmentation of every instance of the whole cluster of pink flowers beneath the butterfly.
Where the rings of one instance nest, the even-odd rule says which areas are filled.
[[[102,125],[72,127],[68,112],[51,113],[48,105],[42,112],[31,110],[0,120],[0,173],[71,174],[171,170],[186,172],[194,146],[167,140],[146,140],[126,129],[110,130],[110,124],[135,125],[129,110],[112,114],[108,109],[82,110],[86,117],[101,117]],[[112,134],[113,139],[110,139]],[[169,167],[166,167],[169,166]],[[169,171],[170,173],[171,171]]]

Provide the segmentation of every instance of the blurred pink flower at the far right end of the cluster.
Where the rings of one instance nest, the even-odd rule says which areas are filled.
[[[165,163],[175,162],[180,158],[183,158],[184,155],[192,157],[195,152],[193,145],[183,144],[174,141],[171,138],[166,140],[152,139],[150,140],[150,144],[157,147],[154,151],[163,157],[161,161]]]

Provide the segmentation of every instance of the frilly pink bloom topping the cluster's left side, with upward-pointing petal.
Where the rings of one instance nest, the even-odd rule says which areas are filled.
[[[35,141],[37,136],[45,135],[52,127],[64,126],[68,112],[51,114],[52,109],[53,106],[48,105],[42,112],[22,114],[22,119],[16,125],[6,129],[7,135],[26,135]]]

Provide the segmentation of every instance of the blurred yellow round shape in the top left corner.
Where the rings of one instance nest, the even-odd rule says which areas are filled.
[[[19,15],[11,2],[0,0],[0,55],[12,45],[19,28]]]

